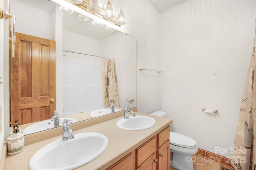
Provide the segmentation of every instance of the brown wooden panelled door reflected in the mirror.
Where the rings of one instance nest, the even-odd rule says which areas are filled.
[[[31,123],[54,114],[55,44],[16,33],[15,56],[10,57],[10,122]]]

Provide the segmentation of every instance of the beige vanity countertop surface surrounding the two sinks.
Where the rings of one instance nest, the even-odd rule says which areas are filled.
[[[172,123],[172,119],[164,117],[157,117],[140,112],[136,112],[135,114],[153,117],[156,120],[156,125],[142,131],[126,131],[116,126],[116,122],[122,118],[118,117],[103,123],[74,131],[75,137],[76,133],[97,132],[105,135],[108,138],[107,149],[98,158],[77,169],[106,169]],[[62,135],[27,145],[25,146],[25,149],[18,154],[7,155],[5,161],[5,169],[28,170],[28,162],[33,154],[48,143],[60,138],[62,138]]]

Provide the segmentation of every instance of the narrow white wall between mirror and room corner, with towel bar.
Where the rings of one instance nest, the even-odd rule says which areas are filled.
[[[160,70],[160,13],[147,0],[116,0],[121,7],[126,25],[122,26],[136,38],[138,111],[151,113],[160,109],[161,77],[157,72],[139,71],[139,68]]]

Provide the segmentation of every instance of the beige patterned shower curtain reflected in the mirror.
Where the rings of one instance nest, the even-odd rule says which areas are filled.
[[[106,107],[112,102],[119,107],[115,59],[102,58],[101,65],[103,106]]]

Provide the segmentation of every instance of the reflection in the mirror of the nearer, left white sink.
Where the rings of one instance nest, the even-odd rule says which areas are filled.
[[[71,120],[72,121],[71,123],[77,122],[77,120],[73,119],[73,118],[60,118],[60,126],[62,126],[62,123],[64,122],[65,119]],[[28,134],[31,134],[31,133],[45,131],[45,130],[52,129],[52,128],[54,128],[54,122],[49,119],[49,120],[46,120],[46,121],[40,121],[38,123],[35,123],[33,125],[30,125],[30,126],[26,127],[24,129],[23,133],[25,135],[28,135]]]

